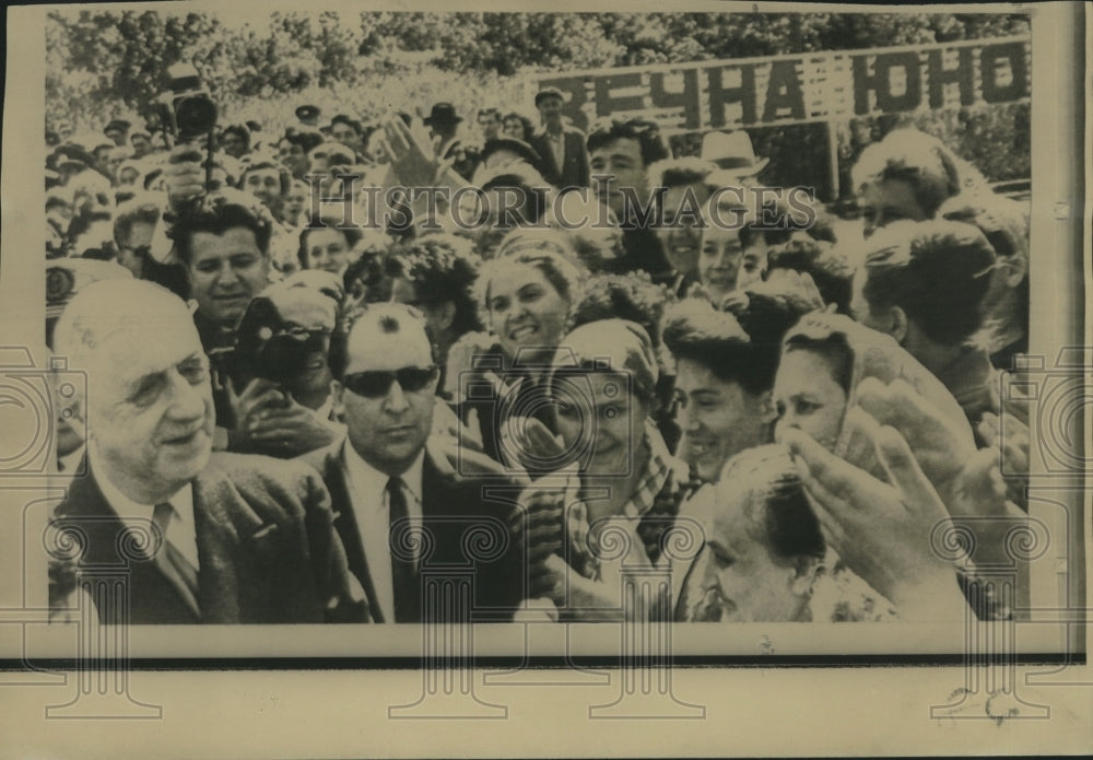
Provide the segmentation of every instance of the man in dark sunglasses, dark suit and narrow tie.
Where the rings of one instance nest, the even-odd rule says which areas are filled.
[[[508,527],[520,488],[493,460],[432,432],[439,370],[425,318],[402,304],[369,306],[331,370],[348,434],[305,460],[322,472],[373,620],[510,619],[526,587]],[[428,577],[471,575],[469,604],[423,603]]]

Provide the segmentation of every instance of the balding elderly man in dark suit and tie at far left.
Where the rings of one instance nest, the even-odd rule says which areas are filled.
[[[51,598],[89,591],[103,622],[363,621],[318,475],[298,463],[212,454],[209,361],[186,304],[141,280],[105,280],[69,303],[55,331],[87,431],[86,477],[55,525],[81,535],[75,572]],[[120,568],[128,618],[84,571]],[[81,580],[82,578],[82,580]],[[125,610],[121,610],[125,615]]]

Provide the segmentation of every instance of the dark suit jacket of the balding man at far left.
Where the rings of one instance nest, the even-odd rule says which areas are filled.
[[[126,527],[87,475],[72,482],[56,525],[86,536],[74,561],[84,571],[120,570],[128,578],[129,620],[163,623],[363,622],[367,610],[333,531],[330,496],[299,463],[218,453],[193,486],[200,617],[150,560],[131,551]],[[128,570],[127,570],[128,569]],[[71,580],[71,573],[54,573]],[[99,619],[113,610],[108,589],[92,584]],[[64,598],[51,589],[50,598]]]

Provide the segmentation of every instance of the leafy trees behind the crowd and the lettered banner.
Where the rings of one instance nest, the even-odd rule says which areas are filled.
[[[944,43],[1027,34],[1022,14],[414,13],[274,12],[247,24],[214,14],[77,10],[46,26],[47,122],[102,129],[140,115],[166,68],[188,59],[221,106],[222,121],[257,119],[270,133],[314,103],[366,121],[391,109],[450,101],[465,114],[525,109],[529,74],[587,68]],[[995,182],[1030,176],[1027,104],[919,115],[915,124]],[[855,119],[839,129],[842,195],[861,149],[894,125]],[[766,183],[826,187],[823,126],[749,130],[771,164]]]

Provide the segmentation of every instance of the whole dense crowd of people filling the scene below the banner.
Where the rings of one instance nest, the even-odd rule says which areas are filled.
[[[977,569],[1027,508],[1025,209],[909,128],[856,222],[762,187],[743,131],[673,156],[563,102],[54,126],[47,342],[87,377],[58,615],[121,619],[96,562],[132,623],[1010,613]]]

